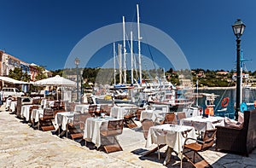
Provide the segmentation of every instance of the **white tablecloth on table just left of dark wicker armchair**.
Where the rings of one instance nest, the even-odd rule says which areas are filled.
[[[202,116],[191,117],[187,119],[181,119],[180,125],[191,125],[195,127],[195,130],[206,131],[212,130],[216,125],[224,126],[223,117],[213,117],[203,118]]]

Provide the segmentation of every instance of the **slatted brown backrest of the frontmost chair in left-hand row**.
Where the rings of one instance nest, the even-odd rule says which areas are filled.
[[[108,135],[120,135],[123,132],[124,119],[108,121]]]

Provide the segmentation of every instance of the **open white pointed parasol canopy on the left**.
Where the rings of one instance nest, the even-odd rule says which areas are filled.
[[[70,87],[73,86],[74,87],[76,86],[76,83],[72,80],[56,75],[55,77],[52,77],[52,78],[44,78],[42,80],[38,80],[34,83],[34,85],[70,86]]]

